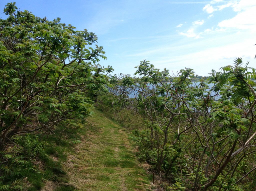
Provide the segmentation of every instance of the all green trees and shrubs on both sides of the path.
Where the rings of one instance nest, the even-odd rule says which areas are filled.
[[[9,17],[0,19],[0,150],[6,152],[0,190],[24,189],[24,177],[30,190],[40,189],[42,180],[60,181],[64,148],[80,143],[73,132],[81,128],[78,120],[85,123],[93,114],[92,100],[133,130],[138,158],[164,174],[167,190],[255,189],[256,69],[249,62],[237,58],[197,82],[193,69],[160,71],[146,60],[136,67],[140,78],[109,78],[113,68],[98,63],[106,59],[103,48],[91,47],[94,33],[17,11],[15,3],[4,12]],[[8,144],[15,146],[7,150]],[[44,171],[35,164],[39,158]]]

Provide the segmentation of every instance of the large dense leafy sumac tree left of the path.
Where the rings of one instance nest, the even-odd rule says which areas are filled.
[[[15,3],[0,19],[0,150],[17,134],[52,132],[65,120],[92,114],[88,93],[107,91],[112,67],[101,67],[97,36],[75,30],[60,18],[48,21],[17,11]]]

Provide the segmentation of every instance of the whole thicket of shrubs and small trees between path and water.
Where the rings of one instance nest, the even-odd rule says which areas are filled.
[[[248,62],[249,63],[249,62]],[[113,76],[99,107],[133,131],[138,157],[166,190],[247,190],[255,180],[255,69],[242,59],[193,82],[142,61],[141,78]]]

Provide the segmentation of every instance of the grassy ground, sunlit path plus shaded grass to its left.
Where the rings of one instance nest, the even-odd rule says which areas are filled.
[[[28,191],[150,190],[152,177],[140,166],[128,132],[98,110],[74,133],[65,130],[16,138],[20,149],[6,156],[1,185]],[[65,139],[66,137],[66,139]],[[80,141],[78,141],[80,140]],[[17,151],[16,151],[16,150]],[[9,158],[8,158],[9,157]]]

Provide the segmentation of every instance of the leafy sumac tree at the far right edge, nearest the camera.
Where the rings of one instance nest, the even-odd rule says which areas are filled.
[[[222,73],[214,71],[212,74],[211,82],[216,83],[214,90],[219,91],[220,97],[211,103],[209,122],[218,128],[214,131],[211,129],[211,132],[206,131],[203,135],[206,137],[204,148],[209,149],[213,156],[208,160],[207,165],[218,168],[206,181],[202,190],[206,191],[216,181],[218,182],[221,174],[224,180],[220,179],[218,187],[224,190],[230,189],[256,169],[255,164],[250,163],[248,173],[244,173],[241,177],[237,172],[237,168],[243,164],[243,161],[247,157],[253,158],[256,152],[254,144],[256,73],[254,68],[248,67],[248,64],[249,62],[243,66],[242,59],[237,58],[234,66],[222,67]],[[219,136],[216,137],[216,133],[219,133]],[[212,141],[211,144],[209,140]],[[223,186],[225,181],[227,185]]]

